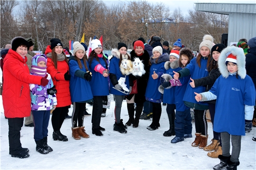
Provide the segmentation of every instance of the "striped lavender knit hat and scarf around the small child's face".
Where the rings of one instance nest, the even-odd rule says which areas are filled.
[[[47,64],[47,57],[45,54],[38,54],[32,58],[31,70],[30,73],[37,76],[46,76],[46,67],[39,67],[37,63],[40,61],[45,61]]]

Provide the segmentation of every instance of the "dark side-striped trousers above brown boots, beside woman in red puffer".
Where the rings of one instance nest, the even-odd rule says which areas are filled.
[[[84,115],[84,108],[86,103],[73,103],[73,112],[72,112],[72,127],[77,127],[77,120],[78,120],[78,127],[83,126],[83,115]]]

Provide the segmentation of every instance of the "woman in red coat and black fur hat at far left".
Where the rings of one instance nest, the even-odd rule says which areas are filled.
[[[32,76],[27,67],[28,42],[23,37],[15,37],[11,49],[4,58],[3,108],[9,125],[9,154],[12,157],[27,158],[29,150],[22,148],[20,130],[24,117],[30,116],[31,99],[29,84],[47,85],[48,80]]]

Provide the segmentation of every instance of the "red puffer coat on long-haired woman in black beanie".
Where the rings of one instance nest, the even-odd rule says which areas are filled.
[[[64,74],[69,70],[66,61],[57,61],[57,69],[54,67],[54,63],[51,58],[47,58],[47,73],[49,73],[53,79],[55,88],[57,90],[56,98],[58,104],[56,107],[64,107],[71,105],[71,97],[69,91],[69,81],[64,79]]]

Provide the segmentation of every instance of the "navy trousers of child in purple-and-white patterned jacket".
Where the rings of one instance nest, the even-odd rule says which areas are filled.
[[[38,141],[48,136],[50,110],[32,110],[32,115],[34,120],[34,139]]]

